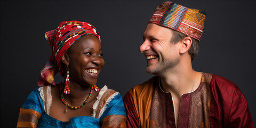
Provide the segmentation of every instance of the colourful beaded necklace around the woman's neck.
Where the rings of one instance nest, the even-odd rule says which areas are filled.
[[[84,99],[84,101],[81,103],[81,105],[79,105],[79,106],[77,106],[77,107],[74,107],[74,106],[71,106],[71,105],[69,105],[66,101],[65,101],[65,99],[64,99],[64,97],[63,97],[63,94],[62,94],[62,83],[60,84],[60,99],[61,99],[61,101],[64,103],[64,105],[65,105],[65,112],[67,112],[67,107],[68,108],[70,108],[70,109],[78,109],[78,108],[81,108],[81,107],[83,107],[87,102],[88,102],[88,100],[91,98],[91,94],[92,94],[92,90],[93,90],[93,87],[95,87],[96,85],[92,85],[91,86],[91,91],[90,91],[90,93],[89,93],[89,95],[87,95],[87,97]],[[96,86],[97,87],[97,86]],[[97,87],[97,89],[98,89],[98,87]]]

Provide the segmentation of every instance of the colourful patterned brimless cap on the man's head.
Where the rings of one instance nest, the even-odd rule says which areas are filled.
[[[171,28],[200,41],[206,13],[166,1],[156,7],[149,23]]]

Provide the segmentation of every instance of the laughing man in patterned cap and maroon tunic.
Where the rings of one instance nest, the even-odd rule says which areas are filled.
[[[156,76],[125,95],[128,127],[254,127],[234,83],[192,68],[205,17],[168,1],[156,8],[140,46]]]

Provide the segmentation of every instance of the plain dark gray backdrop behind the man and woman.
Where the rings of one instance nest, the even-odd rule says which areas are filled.
[[[16,126],[19,109],[37,87],[40,71],[51,54],[44,34],[62,21],[89,22],[99,31],[105,67],[98,86],[106,84],[124,96],[131,87],[152,77],[146,74],[146,58],[139,46],[149,18],[162,2],[1,1],[1,127]],[[256,2],[173,2],[207,13],[193,68],[237,84],[255,123]]]

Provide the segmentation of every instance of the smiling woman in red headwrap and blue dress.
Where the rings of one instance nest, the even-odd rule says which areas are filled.
[[[20,109],[17,127],[126,127],[121,95],[97,77],[104,60],[98,31],[89,23],[61,22],[45,34],[52,55],[38,87]],[[54,83],[60,72],[65,82]]]

